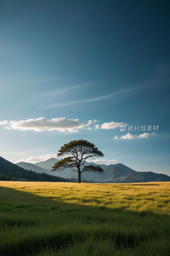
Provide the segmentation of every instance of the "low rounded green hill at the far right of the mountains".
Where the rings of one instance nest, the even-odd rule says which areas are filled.
[[[133,172],[122,177],[119,177],[112,182],[156,182],[156,181],[170,181],[170,177],[165,174],[155,172]]]

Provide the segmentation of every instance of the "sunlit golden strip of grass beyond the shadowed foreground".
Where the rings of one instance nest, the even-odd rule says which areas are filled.
[[[170,182],[78,184],[0,181],[0,186],[79,205],[170,214]]]

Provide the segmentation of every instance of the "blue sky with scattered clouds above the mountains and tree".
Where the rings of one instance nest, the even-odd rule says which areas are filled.
[[[2,0],[0,156],[36,163],[85,139],[104,153],[96,163],[170,175],[168,9],[167,1]]]

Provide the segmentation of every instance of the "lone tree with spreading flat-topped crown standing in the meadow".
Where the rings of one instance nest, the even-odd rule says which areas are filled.
[[[80,171],[80,166],[85,164],[85,160],[89,157],[92,159],[99,158],[104,156],[98,148],[95,148],[95,145],[88,142],[87,140],[73,140],[58,150],[60,153],[57,156],[66,156],[64,159],[58,161],[55,166],[52,166],[53,170],[61,172],[66,168],[74,168],[76,167],[77,170],[72,169],[75,172],[78,172],[78,183],[81,183],[81,173],[82,172],[94,172],[98,174],[102,174],[103,169],[98,165],[94,166],[92,164],[85,165],[83,170]]]

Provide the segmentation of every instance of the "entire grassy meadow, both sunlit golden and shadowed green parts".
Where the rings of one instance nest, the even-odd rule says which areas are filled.
[[[170,255],[170,182],[0,181],[0,255]]]

